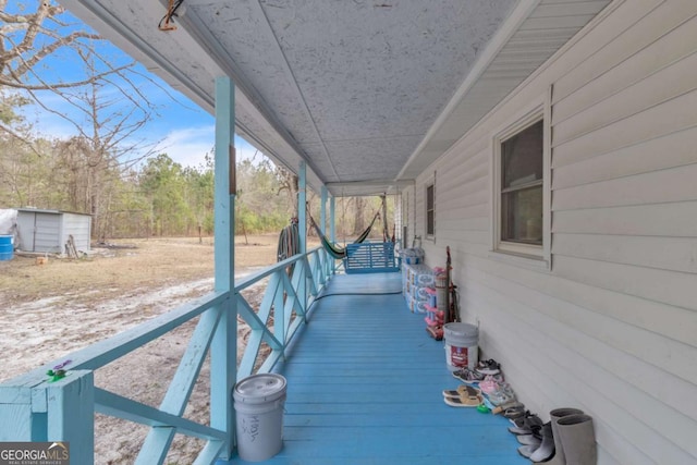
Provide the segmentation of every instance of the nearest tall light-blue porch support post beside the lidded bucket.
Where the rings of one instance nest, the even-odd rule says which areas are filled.
[[[216,78],[215,244],[216,291],[228,291],[210,348],[210,426],[228,433],[222,457],[234,450],[232,390],[237,366],[237,296],[234,292],[235,231],[235,87],[228,76]]]

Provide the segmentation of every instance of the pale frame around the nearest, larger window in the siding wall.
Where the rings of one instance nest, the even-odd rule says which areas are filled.
[[[551,99],[543,99],[509,120],[492,138],[491,169],[491,253],[496,258],[551,270]],[[512,121],[512,122],[511,122]],[[542,121],[542,245],[503,241],[502,219],[502,145],[534,124]]]

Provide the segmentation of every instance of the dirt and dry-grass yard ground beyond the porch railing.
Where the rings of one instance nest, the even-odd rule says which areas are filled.
[[[276,262],[278,235],[235,238],[235,274]],[[60,259],[16,255],[0,261],[0,380],[65,357],[207,294],[213,286],[212,238],[114,241],[89,256]],[[258,305],[262,285],[244,292]],[[96,386],[158,406],[186,348],[196,320],[95,372]],[[239,345],[248,328],[240,325]],[[242,347],[241,347],[242,348]],[[241,353],[241,352],[240,352]],[[70,369],[70,366],[68,367]],[[208,362],[185,416],[208,423]],[[95,463],[133,463],[147,428],[96,416]],[[175,437],[167,464],[191,464],[201,441]]]

